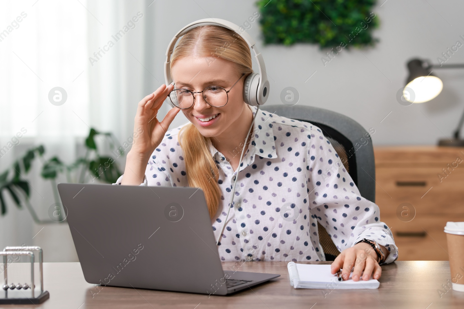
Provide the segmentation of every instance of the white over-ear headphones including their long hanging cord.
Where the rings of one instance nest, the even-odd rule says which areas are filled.
[[[269,97],[269,81],[267,80],[266,67],[264,66],[263,56],[261,56],[261,53],[259,53],[258,49],[255,47],[255,44],[256,44],[255,41],[251,38],[251,36],[248,33],[246,33],[245,31],[242,32],[240,30],[240,27],[238,27],[238,25],[235,25],[225,19],[206,18],[206,19],[200,19],[200,20],[194,21],[193,23],[188,24],[185,27],[183,27],[179,32],[177,32],[177,34],[171,40],[171,43],[169,43],[169,46],[168,46],[168,50],[166,50],[166,62],[164,63],[164,79],[166,80],[166,85],[169,85],[170,83],[173,82],[171,78],[171,69],[169,67],[169,62],[170,62],[171,54],[174,51],[175,43],[181,36],[186,34],[188,31],[192,30],[193,28],[202,26],[202,25],[217,25],[220,27],[224,27],[226,29],[233,30],[238,35],[240,35],[245,40],[246,43],[248,43],[248,45],[251,47],[251,49],[255,53],[255,58],[256,58],[256,61],[258,62],[259,74],[258,73],[249,74],[245,79],[245,83],[243,87],[243,100],[245,101],[245,103],[247,103],[250,106],[258,107],[253,117],[253,121],[251,122],[251,126],[248,129],[248,133],[246,135],[245,144],[244,144],[246,145],[246,143],[248,142],[248,137],[250,136],[251,128],[253,127],[255,118],[258,115],[259,106],[263,105],[267,101],[267,98]],[[171,107],[174,107],[171,100],[167,100],[167,102]],[[242,154],[240,155],[240,161],[238,162],[238,167],[237,167],[238,170],[240,169],[240,164],[242,163],[244,151],[245,151],[245,147],[242,148]],[[224,227],[226,227],[226,222],[227,222],[227,218],[229,217],[231,205],[233,205],[233,198],[235,196],[235,185],[237,184],[237,179],[238,177],[236,176],[235,182],[233,184],[231,200],[230,200],[229,207],[227,210],[226,220],[224,220],[224,224],[222,226],[221,232],[219,233],[219,238],[218,238],[218,241],[216,242],[216,245],[219,244],[219,240],[221,239],[222,232],[224,232]]]

